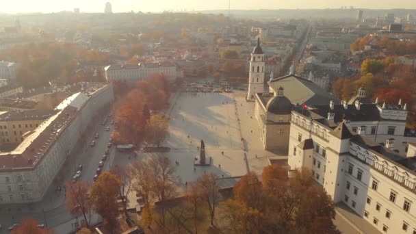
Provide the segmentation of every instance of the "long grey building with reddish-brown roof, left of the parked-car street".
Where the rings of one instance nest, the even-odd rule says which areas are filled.
[[[112,85],[91,84],[86,83],[88,91],[58,105],[60,112],[42,122],[14,151],[0,153],[0,204],[42,200],[88,124],[114,100]]]

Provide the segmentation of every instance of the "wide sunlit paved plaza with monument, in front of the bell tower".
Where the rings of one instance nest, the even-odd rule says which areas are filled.
[[[268,166],[268,153],[261,146],[257,120],[252,116],[254,103],[246,102],[244,95],[242,91],[182,92],[172,98],[168,113],[170,135],[164,146],[171,148],[166,156],[172,164],[179,163],[177,176],[182,185],[195,181],[204,172],[239,177],[249,170],[261,174]],[[200,140],[205,142],[207,161],[212,159],[210,166],[194,166]]]

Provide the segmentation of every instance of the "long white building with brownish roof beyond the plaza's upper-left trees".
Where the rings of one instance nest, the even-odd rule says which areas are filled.
[[[107,81],[122,81],[134,84],[149,75],[162,74],[169,79],[181,76],[177,66],[172,62],[109,65],[104,68]]]

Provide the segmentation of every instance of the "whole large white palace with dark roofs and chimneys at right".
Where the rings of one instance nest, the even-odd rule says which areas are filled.
[[[376,144],[373,126],[359,124],[374,122],[375,133],[394,135],[390,126],[401,122],[404,112],[400,105],[359,101],[296,109],[291,112],[288,164],[291,170],[312,170],[335,203],[345,203],[381,232],[416,233],[415,144],[400,155],[391,148],[401,142],[390,136],[386,147]],[[384,120],[374,121],[374,116]],[[356,133],[350,131],[354,127]]]

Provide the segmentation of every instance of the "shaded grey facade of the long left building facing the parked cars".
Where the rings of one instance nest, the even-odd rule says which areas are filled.
[[[62,131],[55,144],[49,148],[47,155],[43,156],[34,170],[0,172],[0,204],[34,203],[42,200],[66,157],[76,146],[75,144],[83,131],[86,130],[88,123],[100,109],[112,103],[113,100],[112,85],[96,91],[79,109],[77,116]],[[20,181],[19,176],[21,176]],[[6,183],[5,177],[9,178],[9,183]],[[23,190],[21,190],[22,188]]]

